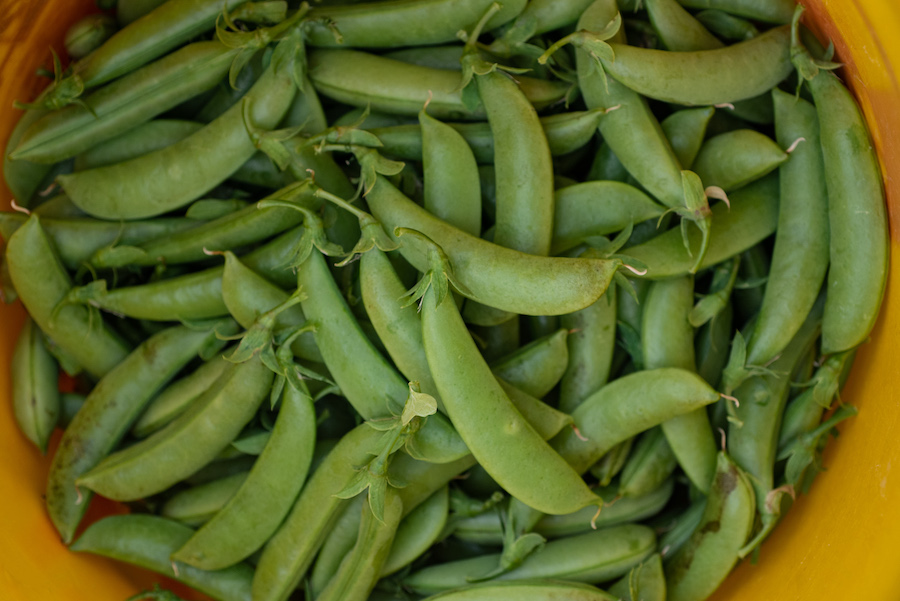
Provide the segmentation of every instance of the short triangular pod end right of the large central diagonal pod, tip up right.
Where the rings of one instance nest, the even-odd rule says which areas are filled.
[[[566,330],[534,340],[491,363],[497,378],[537,398],[543,398],[556,386],[568,363]]]

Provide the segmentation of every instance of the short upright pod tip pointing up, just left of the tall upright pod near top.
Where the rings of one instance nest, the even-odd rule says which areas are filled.
[[[419,113],[425,208],[472,236],[481,235],[481,184],[472,149],[456,130]]]

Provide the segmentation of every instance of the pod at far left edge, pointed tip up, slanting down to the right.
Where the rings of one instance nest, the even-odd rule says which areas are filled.
[[[94,377],[110,371],[128,354],[128,347],[86,307],[57,304],[71,290],[69,274],[59,261],[40,218],[29,217],[10,236],[6,265],[19,298],[41,331]]]

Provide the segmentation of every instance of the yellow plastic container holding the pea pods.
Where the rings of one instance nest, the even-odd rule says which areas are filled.
[[[763,545],[758,565],[738,566],[714,599],[892,601],[900,599],[900,2],[803,3],[807,23],[834,40],[846,65],[842,75],[872,130],[888,194],[893,261],[881,317],[843,395],[859,415],[842,426],[825,456],[828,471]],[[0,0],[4,145],[19,115],[10,108],[13,100],[39,91],[44,82],[33,73],[49,64],[49,48],[61,50],[67,25],[95,10],[93,0]],[[0,183],[4,210],[9,198]],[[123,601],[160,578],[69,552],[44,511],[49,461],[19,434],[8,402],[9,358],[23,315],[19,305],[0,306],[0,598]]]

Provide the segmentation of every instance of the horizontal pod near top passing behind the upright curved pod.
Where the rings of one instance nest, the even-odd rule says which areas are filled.
[[[468,109],[460,96],[459,71],[429,69],[356,50],[309,52],[309,78],[316,90],[351,106],[415,117],[429,92],[428,112],[436,119],[484,119],[484,108]],[[528,100],[540,110],[561,102],[569,84],[520,76]]]

